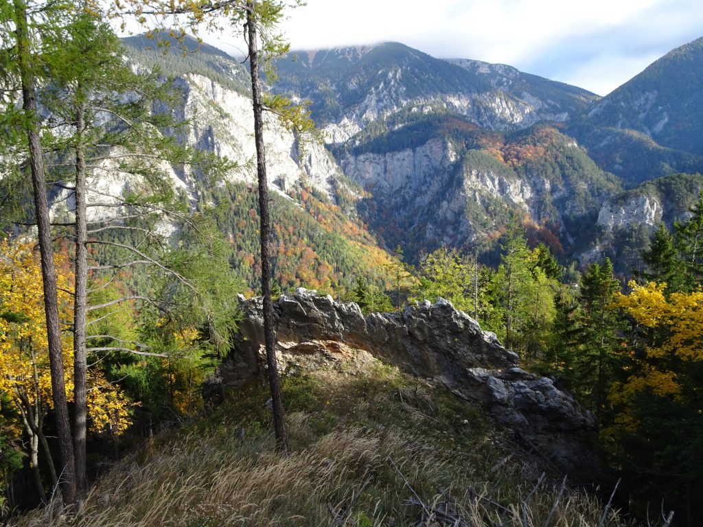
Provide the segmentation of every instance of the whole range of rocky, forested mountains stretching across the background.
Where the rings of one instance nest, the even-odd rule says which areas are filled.
[[[207,45],[183,57],[150,51],[142,37],[124,43],[133,60],[178,77],[178,111],[191,123],[183,141],[243,167],[251,161],[247,72],[238,61]],[[281,207],[307,210],[300,190],[314,190],[340,221],[370,230],[369,251],[401,244],[414,261],[449,245],[489,258],[517,215],[533,242],[565,259],[618,257],[634,230],[631,245],[646,245],[647,233],[685,215],[703,187],[703,39],[605,97],[393,42],[297,51],[276,60],[276,70],[269,89],[309,100],[326,143],[302,149],[271,119],[270,179]],[[191,176],[181,184],[193,200],[202,192]],[[658,208],[643,211],[643,196]],[[306,243],[316,250],[314,237]],[[336,265],[316,260],[323,263]]]

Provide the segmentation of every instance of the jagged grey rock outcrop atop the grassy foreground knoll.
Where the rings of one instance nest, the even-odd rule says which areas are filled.
[[[211,397],[224,386],[261,376],[265,369],[262,300],[242,297],[240,307],[243,320],[234,350],[206,387]],[[340,346],[347,353],[362,350],[444,385],[460,398],[483,403],[524,441],[546,448],[557,464],[572,469],[578,464],[574,434],[591,429],[593,417],[551,379],[522,370],[517,355],[503,348],[495,334],[482,331],[449,301],[425,301],[400,312],[364,317],[354,303],[297,289],[292,296],[280,297],[274,308],[284,375],[313,353],[337,353]]]

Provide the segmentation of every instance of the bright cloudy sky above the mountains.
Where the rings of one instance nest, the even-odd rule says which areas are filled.
[[[703,0],[307,0],[289,13],[294,49],[399,41],[599,95],[703,36]]]

